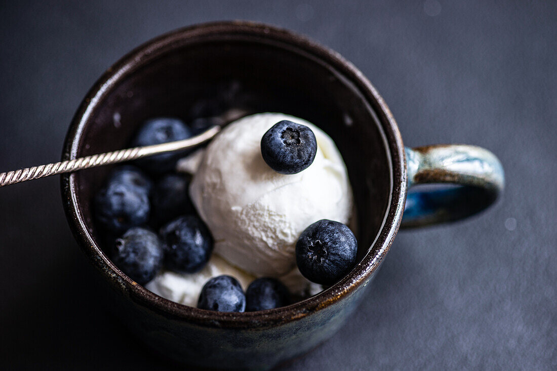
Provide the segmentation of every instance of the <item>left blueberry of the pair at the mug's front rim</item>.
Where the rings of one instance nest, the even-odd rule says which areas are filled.
[[[197,307],[219,312],[243,312],[246,310],[246,295],[234,277],[213,277],[201,289]]]

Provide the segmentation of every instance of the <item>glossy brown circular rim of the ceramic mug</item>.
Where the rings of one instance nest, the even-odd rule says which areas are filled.
[[[350,294],[356,287],[367,281],[378,269],[399,229],[407,194],[407,169],[402,138],[397,123],[383,98],[367,77],[351,62],[345,60],[339,53],[310,40],[306,36],[301,36],[292,31],[265,23],[220,21],[178,28],[134,48],[134,50],[120,58],[113,66],[109,67],[100,79],[95,82],[89,92],[87,92],[84,100],[82,100],[79,109],[72,119],[63,146],[62,160],[75,159],[77,157],[82,133],[92,111],[94,111],[98,102],[102,100],[102,97],[110,91],[111,87],[118,84],[123,77],[133,73],[136,67],[143,66],[152,58],[182,47],[188,41],[192,42],[196,38],[216,37],[217,40],[223,40],[227,35],[244,35],[251,38],[272,39],[273,41],[285,43],[305,53],[309,53],[320,62],[325,62],[328,66],[333,67],[336,72],[339,72],[339,74],[354,84],[378,116],[378,123],[386,137],[384,142],[387,147],[388,158],[390,157],[390,199],[387,212],[384,214],[382,227],[375,236],[373,243],[369,246],[368,252],[354,269],[328,289],[288,306],[245,313],[226,313],[198,309],[178,304],[154,294],[131,280],[110,261],[86,226],[85,217],[79,208],[75,174],[62,174],[60,180],[62,202],[70,228],[81,249],[91,258],[97,269],[102,271],[105,278],[109,279],[113,286],[116,286],[129,299],[140,305],[148,306],[149,309],[164,316],[178,320],[188,320],[200,325],[216,328],[261,328],[304,318],[315,311],[325,309]]]

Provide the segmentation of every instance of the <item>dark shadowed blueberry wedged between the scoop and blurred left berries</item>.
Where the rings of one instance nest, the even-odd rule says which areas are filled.
[[[194,212],[189,199],[189,179],[186,175],[167,174],[155,184],[151,207],[157,225]]]

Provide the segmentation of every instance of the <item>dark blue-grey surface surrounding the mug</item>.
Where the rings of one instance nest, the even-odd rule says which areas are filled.
[[[251,19],[339,51],[405,144],[486,147],[507,188],[481,216],[400,232],[353,318],[285,369],[557,367],[557,2],[4,2],[0,17],[2,170],[58,160],[97,77],[173,28]],[[97,300],[57,178],[0,189],[0,247],[0,368],[158,368]]]

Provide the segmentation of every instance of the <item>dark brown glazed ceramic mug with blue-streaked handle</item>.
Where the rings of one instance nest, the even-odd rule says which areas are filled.
[[[334,139],[357,206],[359,263],[329,289],[286,307],[219,313],[179,305],[136,284],[106,254],[90,205],[110,169],[62,175],[70,227],[108,284],[108,306],[146,344],[178,362],[265,369],[307,352],[356,308],[401,221],[416,227],[460,219],[502,191],[493,154],[466,145],[405,149],[382,97],[350,62],[305,37],[252,22],[180,29],[121,58],[87,93],[62,159],[125,148],[138,125],[154,116],[192,119],[196,102],[210,101],[223,84],[238,87],[238,108],[299,116]],[[421,183],[458,186],[407,195]]]

